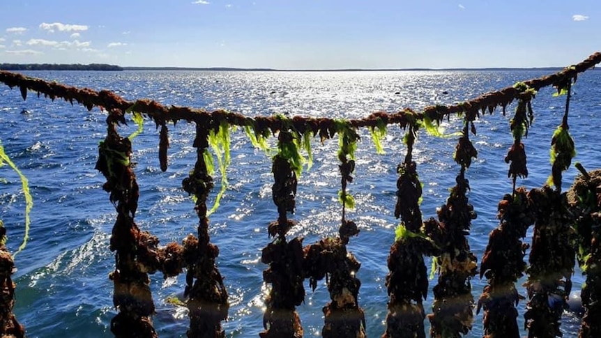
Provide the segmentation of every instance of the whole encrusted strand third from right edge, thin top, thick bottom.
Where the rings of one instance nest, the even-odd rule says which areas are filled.
[[[522,137],[528,135],[533,121],[531,99],[535,91],[518,82],[514,86],[517,94],[515,116],[510,129],[514,139],[505,162],[510,163],[508,177],[512,178],[512,194],[506,194],[499,202],[497,217],[501,224],[491,231],[480,266],[480,278],[486,276],[485,286],[478,300],[477,312],[484,309],[484,331],[495,337],[519,338],[517,327],[517,303],[519,294],[515,283],[524,275],[524,255],[527,245],[522,243],[528,226],[535,221],[530,199],[523,187],[516,189],[517,177],[528,176],[526,152]]]

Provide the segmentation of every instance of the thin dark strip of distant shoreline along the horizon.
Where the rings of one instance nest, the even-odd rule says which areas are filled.
[[[137,70],[162,70],[162,71],[213,71],[213,72],[398,72],[398,71],[499,71],[499,70],[538,70],[556,72],[563,67],[485,67],[485,68],[340,68],[340,69],[276,69],[276,68],[233,68],[233,67],[135,67],[116,66],[104,63],[82,64],[54,64],[54,63],[0,63],[0,70],[97,70],[97,71],[137,71]],[[592,70],[599,70],[593,68]]]

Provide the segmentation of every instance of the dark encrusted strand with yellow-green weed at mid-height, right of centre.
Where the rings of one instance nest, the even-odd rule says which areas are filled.
[[[425,337],[423,300],[427,296],[428,279],[423,256],[438,256],[436,245],[423,233],[420,201],[422,184],[411,152],[416,140],[417,123],[411,123],[404,137],[407,153],[397,172],[395,217],[401,222],[390,247],[386,287],[390,301],[383,338]]]

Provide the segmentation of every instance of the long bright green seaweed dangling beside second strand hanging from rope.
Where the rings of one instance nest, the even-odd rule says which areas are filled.
[[[215,153],[215,157],[217,158],[217,163],[219,164],[219,171],[221,174],[221,187],[215,197],[215,202],[211,209],[206,212],[206,216],[208,217],[212,213],[219,208],[221,197],[223,193],[227,189],[227,167],[231,164],[231,155],[230,155],[230,147],[231,147],[231,138],[229,135],[229,123],[227,121],[220,121],[217,132],[215,130],[211,130],[208,133],[208,144],[213,149],[213,153]],[[207,173],[210,171],[215,171],[213,168],[213,161],[210,155],[208,155],[205,151],[203,154],[205,160],[205,166],[207,168]],[[211,160],[208,160],[211,158]]]

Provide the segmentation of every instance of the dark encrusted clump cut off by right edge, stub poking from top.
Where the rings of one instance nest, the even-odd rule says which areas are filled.
[[[568,205],[576,216],[577,258],[586,282],[580,297],[584,307],[579,338],[601,337],[601,170],[581,174],[568,191]]]

